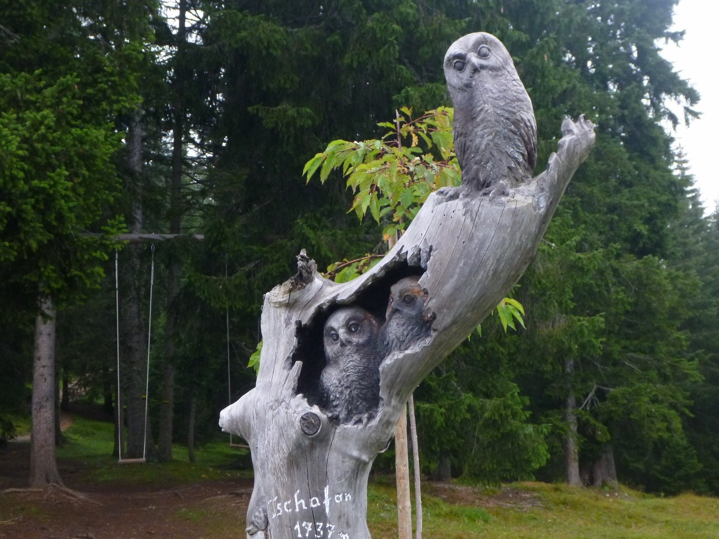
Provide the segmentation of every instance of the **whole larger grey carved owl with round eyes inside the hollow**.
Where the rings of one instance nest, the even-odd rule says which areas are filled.
[[[366,423],[380,401],[380,321],[360,307],[332,313],[324,325],[326,367],[319,404],[342,424]]]

